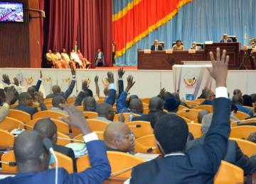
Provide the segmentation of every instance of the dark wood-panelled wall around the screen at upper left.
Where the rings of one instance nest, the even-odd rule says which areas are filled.
[[[24,6],[23,23],[0,23],[0,67],[41,67],[39,18],[29,20],[26,8],[39,8],[38,0],[17,0]],[[14,1],[15,2],[15,1]]]

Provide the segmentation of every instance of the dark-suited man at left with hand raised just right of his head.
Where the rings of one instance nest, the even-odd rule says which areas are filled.
[[[41,93],[38,93],[35,96],[35,99],[39,103],[41,110],[46,110],[46,105],[43,103],[43,95]],[[31,117],[33,116],[33,114],[38,112],[38,109],[33,107],[32,96],[27,92],[23,92],[18,95],[18,106],[16,106],[14,109],[22,110],[30,114]]]

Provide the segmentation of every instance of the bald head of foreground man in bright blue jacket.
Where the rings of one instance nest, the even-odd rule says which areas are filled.
[[[40,132],[25,131],[16,137],[14,154],[19,172],[36,172],[48,168],[50,154],[43,145]]]

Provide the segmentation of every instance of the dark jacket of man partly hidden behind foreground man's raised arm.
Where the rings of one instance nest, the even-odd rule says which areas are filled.
[[[186,150],[191,149],[193,146],[198,144],[203,144],[205,137],[200,137],[191,142],[188,142],[186,145]],[[236,166],[244,170],[245,175],[251,175],[256,171],[256,156],[252,156],[250,159],[244,155],[238,146],[238,144],[233,140],[228,140],[228,151],[225,154],[224,159],[230,163],[235,164]]]

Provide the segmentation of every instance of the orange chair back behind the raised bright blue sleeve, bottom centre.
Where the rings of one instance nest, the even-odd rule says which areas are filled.
[[[107,158],[110,161],[112,176],[123,178],[129,178],[132,173],[132,167],[144,162],[144,159],[140,159],[137,156],[119,151],[107,151]],[[88,155],[82,156],[80,159],[78,159],[78,172],[84,171],[89,167],[90,160]],[[126,171],[127,168],[130,168],[129,171]],[[118,174],[119,172],[120,174]]]

